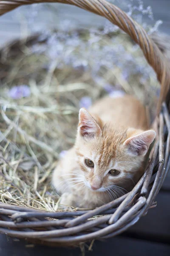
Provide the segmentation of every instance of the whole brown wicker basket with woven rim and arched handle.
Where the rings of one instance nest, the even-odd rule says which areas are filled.
[[[127,230],[156,206],[154,200],[170,168],[170,65],[144,29],[105,0],[0,0],[0,15],[17,6],[38,2],[72,4],[104,16],[139,44],[161,84],[154,122],[158,140],[146,172],[126,195],[91,211],[46,212],[0,203],[0,233],[57,246],[107,239]],[[102,216],[89,220],[94,215]]]

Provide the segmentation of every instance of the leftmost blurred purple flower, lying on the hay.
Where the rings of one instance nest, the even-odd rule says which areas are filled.
[[[21,99],[23,97],[29,97],[30,94],[30,87],[26,84],[14,86],[8,91],[8,95],[12,99]]]

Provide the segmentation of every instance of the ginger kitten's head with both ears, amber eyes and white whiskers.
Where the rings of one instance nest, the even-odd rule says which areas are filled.
[[[153,130],[103,124],[81,108],[75,148],[85,185],[95,191],[116,186],[132,189],[143,173],[145,155],[155,137]]]

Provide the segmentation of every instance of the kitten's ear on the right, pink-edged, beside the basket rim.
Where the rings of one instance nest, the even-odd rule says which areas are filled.
[[[144,131],[140,134],[137,134],[133,137],[130,137],[124,142],[128,152],[135,156],[144,156],[150,144],[153,143],[153,140],[156,137],[156,132],[153,130]]]

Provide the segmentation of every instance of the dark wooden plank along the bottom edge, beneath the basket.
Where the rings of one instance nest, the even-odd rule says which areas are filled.
[[[23,242],[7,240],[0,236],[0,255],[2,256],[81,256],[79,248],[28,247]],[[117,236],[107,242],[96,241],[92,251],[85,247],[87,256],[170,256],[170,246],[159,242]]]

